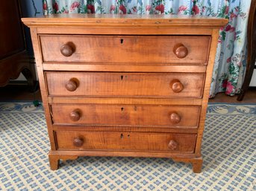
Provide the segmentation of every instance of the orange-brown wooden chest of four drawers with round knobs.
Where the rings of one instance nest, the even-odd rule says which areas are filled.
[[[219,27],[186,16],[52,15],[31,28],[51,169],[78,156],[172,158],[202,169]]]

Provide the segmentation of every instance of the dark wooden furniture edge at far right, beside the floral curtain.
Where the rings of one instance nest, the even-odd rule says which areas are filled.
[[[255,70],[256,62],[256,0],[252,0],[249,11],[248,28],[247,28],[247,64],[246,76],[241,88],[241,92],[237,97],[238,101],[242,101],[249,88],[252,80],[252,74]]]

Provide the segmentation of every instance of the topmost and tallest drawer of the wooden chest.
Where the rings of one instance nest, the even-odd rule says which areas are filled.
[[[210,36],[40,36],[43,62],[206,65]]]

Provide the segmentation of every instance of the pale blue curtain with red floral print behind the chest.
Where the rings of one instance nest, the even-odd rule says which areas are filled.
[[[239,93],[246,68],[251,0],[43,0],[43,13],[181,14],[229,19],[219,30],[210,97]]]

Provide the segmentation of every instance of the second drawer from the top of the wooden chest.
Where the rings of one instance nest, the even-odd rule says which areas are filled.
[[[46,72],[50,96],[202,97],[203,73]]]

